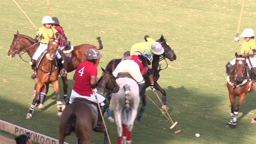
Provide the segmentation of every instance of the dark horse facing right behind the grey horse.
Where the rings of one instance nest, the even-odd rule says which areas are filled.
[[[153,61],[152,61],[153,80],[154,80],[155,89],[160,91],[163,95],[162,96],[162,104],[164,105],[165,108],[162,107],[162,109],[163,109],[163,111],[165,111],[164,109],[166,109],[166,105],[167,105],[166,92],[157,83],[157,80],[160,77],[159,72],[161,70],[163,70],[163,69],[161,69],[161,65],[159,65],[159,62],[163,59],[166,61],[166,58],[169,59],[170,61],[174,61],[174,60],[176,60],[176,55],[175,55],[174,51],[170,48],[170,46],[167,44],[163,35],[161,35],[160,39],[158,39],[156,42],[161,43],[162,47],[164,48],[164,53],[162,55],[153,55]],[[127,54],[127,52],[125,52],[124,56],[129,56],[129,54]],[[106,71],[109,71],[110,69],[112,69],[112,71],[114,71],[114,69],[120,63],[120,61],[121,61],[121,59],[111,60],[108,63],[108,65],[106,66]],[[166,61],[166,63],[167,63],[167,61]],[[168,64],[167,64],[167,66],[168,66]],[[145,92],[146,89],[151,85],[151,82],[150,82],[148,75],[143,76],[143,78],[145,79],[145,88],[144,88],[144,92]],[[109,96],[106,96],[106,97],[108,97],[108,99],[110,101],[111,98]],[[142,107],[140,109],[139,116],[137,117],[137,122],[140,121],[140,118],[142,117],[143,111],[145,110],[145,107],[146,107],[146,96],[143,95],[141,97],[142,97]],[[108,112],[108,113],[109,113],[109,120],[113,122],[111,113],[110,112]]]

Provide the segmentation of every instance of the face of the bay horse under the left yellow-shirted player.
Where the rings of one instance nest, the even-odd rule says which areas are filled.
[[[59,37],[57,37],[57,39],[50,39],[49,43],[48,43],[48,47],[47,47],[47,54],[46,57],[49,60],[54,60],[56,57],[56,52],[58,49],[58,42],[59,42]]]

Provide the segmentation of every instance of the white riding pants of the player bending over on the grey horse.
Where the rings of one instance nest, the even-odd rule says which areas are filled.
[[[143,84],[145,81],[143,80],[143,77],[141,75],[140,67],[139,65],[134,62],[133,60],[127,59],[121,61],[115,70],[113,71],[113,76],[117,76],[120,72],[127,72],[129,73],[133,79],[137,81],[138,84]]]

